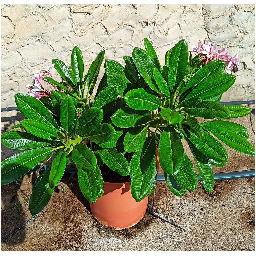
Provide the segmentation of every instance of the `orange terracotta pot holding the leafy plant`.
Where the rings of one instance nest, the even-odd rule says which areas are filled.
[[[156,148],[156,167],[159,168],[158,149]],[[131,182],[104,182],[104,194],[90,203],[92,215],[100,224],[115,229],[129,228],[137,224],[144,216],[148,205],[148,196],[136,202],[131,194]]]

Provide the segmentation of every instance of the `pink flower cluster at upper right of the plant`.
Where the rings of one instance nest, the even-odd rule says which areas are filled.
[[[190,52],[196,52],[199,54],[202,66],[212,60],[223,60],[226,63],[225,73],[231,74],[233,70],[232,67],[234,65],[239,65],[238,54],[236,54],[234,57],[230,57],[229,53],[227,52],[227,48],[223,47],[217,51],[216,45],[212,45],[211,42],[207,43],[204,41],[203,44],[198,42],[197,46],[192,45],[191,48],[192,50],[189,50]]]

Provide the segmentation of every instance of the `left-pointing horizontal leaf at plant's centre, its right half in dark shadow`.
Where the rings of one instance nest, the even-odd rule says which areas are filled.
[[[118,109],[111,120],[114,125],[121,128],[129,128],[147,123],[151,118],[151,113],[147,110],[133,110],[129,107]]]

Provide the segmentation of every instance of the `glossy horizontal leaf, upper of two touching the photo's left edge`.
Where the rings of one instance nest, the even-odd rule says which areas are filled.
[[[56,140],[45,140],[36,137],[28,132],[5,132],[1,136],[2,144],[12,149],[33,149],[49,146],[56,143]]]

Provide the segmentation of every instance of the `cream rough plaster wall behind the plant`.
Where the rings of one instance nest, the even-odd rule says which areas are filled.
[[[70,63],[75,45],[87,71],[101,50],[105,59],[124,64],[122,57],[143,47],[144,37],[162,64],[182,38],[189,47],[207,39],[238,52],[236,83],[222,101],[253,100],[254,26],[254,5],[2,5],[1,104],[14,106],[14,94],[26,92],[31,76],[53,58]]]

